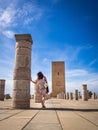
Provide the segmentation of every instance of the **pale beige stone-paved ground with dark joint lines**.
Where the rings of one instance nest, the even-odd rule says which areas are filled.
[[[50,99],[46,109],[31,100],[31,108],[12,109],[0,101],[0,130],[98,130],[98,99]]]

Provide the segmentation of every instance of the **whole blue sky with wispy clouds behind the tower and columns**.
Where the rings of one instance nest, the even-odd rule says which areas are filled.
[[[32,78],[65,61],[66,90],[98,92],[98,0],[0,0],[0,79],[12,93],[14,34],[32,35]],[[31,84],[33,93],[33,84]]]

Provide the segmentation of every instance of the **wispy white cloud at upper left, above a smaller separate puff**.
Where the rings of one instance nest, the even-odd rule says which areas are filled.
[[[19,8],[12,3],[6,9],[0,9],[0,27],[29,24],[33,20],[39,20],[42,13],[43,9],[39,8],[37,4],[27,2]]]

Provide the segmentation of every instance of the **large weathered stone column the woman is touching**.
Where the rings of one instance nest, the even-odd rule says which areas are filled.
[[[15,39],[12,107],[30,108],[32,38],[30,34],[16,34]]]

